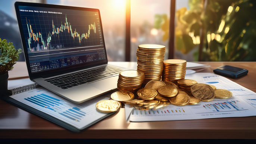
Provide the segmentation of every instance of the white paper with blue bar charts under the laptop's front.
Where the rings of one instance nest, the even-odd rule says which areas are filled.
[[[77,129],[83,129],[96,120],[108,115],[96,110],[96,103],[109,99],[107,94],[85,101],[81,104],[70,101],[39,87],[10,96],[34,109],[40,110],[56,119],[62,120]]]

